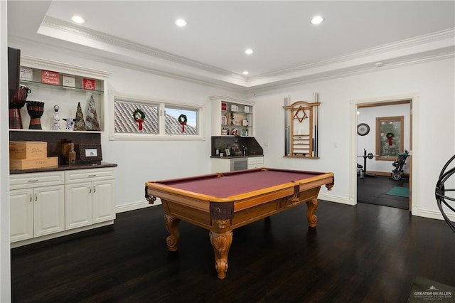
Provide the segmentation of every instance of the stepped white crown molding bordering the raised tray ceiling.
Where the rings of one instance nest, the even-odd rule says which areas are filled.
[[[182,58],[171,53],[166,53],[154,48],[122,40],[104,33],[87,30],[65,23],[55,18],[46,17],[43,21],[44,28],[53,28],[59,31],[60,35],[76,35],[89,39],[90,42],[105,44],[105,48],[97,47],[104,52],[83,50],[82,52],[71,49],[70,47],[52,44],[51,46],[44,41],[31,41],[32,45],[39,45],[53,51],[65,51],[69,55],[77,58],[87,58],[97,60],[107,64],[117,65],[141,72],[161,75],[167,78],[183,80],[199,85],[221,87],[237,92],[259,92],[273,90],[275,88],[289,87],[303,83],[341,78],[348,75],[359,73],[370,73],[378,71],[374,64],[384,61],[386,68],[396,68],[399,66],[424,63],[429,60],[441,60],[454,56],[455,48],[455,28],[444,31],[430,33],[428,35],[398,41],[348,53],[336,58],[327,58],[307,65],[299,65],[294,68],[277,70],[255,77],[244,77],[228,72],[220,68],[205,65],[187,58]],[[40,32],[40,31],[38,31]],[[54,37],[52,34],[44,33],[46,36]],[[9,37],[12,38],[12,37]],[[22,38],[19,38],[19,40]],[[83,46],[90,47],[90,45]],[[68,40],[68,43],[72,43]],[[73,41],[73,43],[77,43]],[[109,46],[113,46],[109,48]],[[451,48],[450,51],[447,51]],[[112,53],[112,55],[109,55]],[[138,54],[141,55],[138,55]],[[136,54],[136,55],[134,55]],[[156,61],[158,58],[161,61]],[[155,61],[154,61],[155,60]],[[155,64],[156,63],[156,64]]]

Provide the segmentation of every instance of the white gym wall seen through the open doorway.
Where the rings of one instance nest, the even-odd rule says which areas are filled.
[[[378,107],[364,107],[358,110],[359,115],[357,116],[357,123],[366,123],[370,127],[370,132],[365,136],[357,137],[357,155],[363,155],[363,149],[366,149],[367,154],[376,154],[376,118],[377,117],[404,117],[404,130],[405,133],[402,136],[404,149],[410,150],[410,105],[388,105]],[[401,150],[399,152],[403,152]],[[380,171],[385,173],[391,173],[395,167],[392,165],[393,161],[381,161],[376,158],[367,159],[367,170],[368,171]],[[364,165],[363,157],[358,157],[357,163]],[[409,161],[407,161],[409,163]],[[403,167],[405,174],[409,174],[409,165]]]

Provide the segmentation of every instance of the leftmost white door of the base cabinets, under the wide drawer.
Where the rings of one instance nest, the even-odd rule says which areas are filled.
[[[33,189],[9,191],[11,243],[33,238]]]

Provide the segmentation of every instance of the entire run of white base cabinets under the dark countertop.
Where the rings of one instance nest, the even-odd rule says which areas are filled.
[[[11,174],[11,248],[114,223],[115,166]]]

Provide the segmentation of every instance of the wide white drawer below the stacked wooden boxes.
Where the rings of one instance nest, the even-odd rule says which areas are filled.
[[[33,174],[14,174],[9,176],[9,189],[62,184],[65,184],[65,173],[63,171],[50,171]]]

